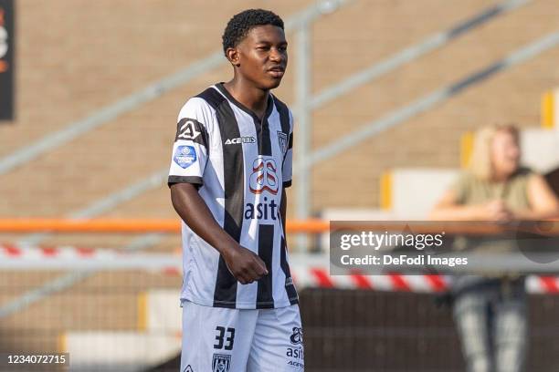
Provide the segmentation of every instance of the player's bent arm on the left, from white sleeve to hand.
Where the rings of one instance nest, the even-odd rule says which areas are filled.
[[[171,200],[181,219],[216,248],[241,284],[247,284],[268,274],[265,263],[223,230],[198,193],[204,183],[211,135],[205,123],[211,118],[211,112],[199,98],[190,99],[181,109],[169,171]]]

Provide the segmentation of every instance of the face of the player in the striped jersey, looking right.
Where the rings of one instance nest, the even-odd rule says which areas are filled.
[[[237,46],[237,71],[261,89],[280,86],[287,67],[287,41],[278,26],[256,26]]]

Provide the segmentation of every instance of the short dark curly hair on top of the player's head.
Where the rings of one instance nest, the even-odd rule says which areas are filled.
[[[254,26],[272,25],[283,29],[283,20],[280,15],[276,15],[269,10],[248,9],[233,17],[227,23],[227,27],[221,37],[223,40],[223,53],[227,53],[227,48],[237,47],[248,31]]]

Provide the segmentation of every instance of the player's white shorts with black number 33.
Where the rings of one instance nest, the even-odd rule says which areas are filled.
[[[226,309],[183,304],[181,372],[304,370],[298,305]]]

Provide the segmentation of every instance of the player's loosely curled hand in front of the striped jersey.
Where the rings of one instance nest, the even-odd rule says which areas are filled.
[[[229,249],[224,253],[223,258],[229,271],[240,284],[250,284],[268,274],[266,263],[258,257],[258,254],[243,246],[237,245]]]

